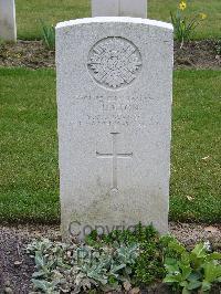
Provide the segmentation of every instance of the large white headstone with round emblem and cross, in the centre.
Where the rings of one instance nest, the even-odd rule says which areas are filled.
[[[168,230],[172,25],[95,18],[56,27],[63,237]],[[73,227],[72,227],[73,225]],[[118,227],[117,227],[118,225]]]

